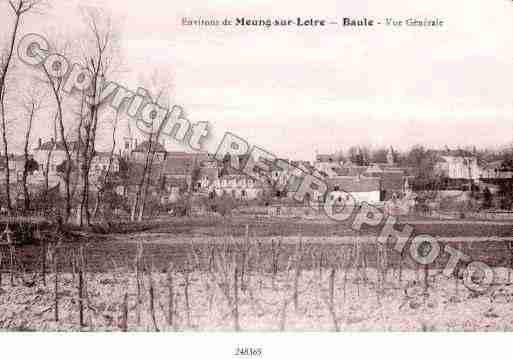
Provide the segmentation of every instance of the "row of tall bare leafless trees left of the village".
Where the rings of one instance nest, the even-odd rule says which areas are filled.
[[[80,33],[70,36],[59,34],[57,39],[61,43],[52,43],[52,52],[66,57],[73,63],[80,64],[86,68],[91,77],[91,86],[87,91],[79,92],[70,97],[64,92],[65,76],[55,76],[56,72],[65,71],[64,68],[47,68],[46,63],[40,66],[38,72],[13,71],[17,65],[15,56],[16,45],[23,35],[24,24],[32,16],[40,15],[47,11],[49,3],[45,0],[8,0],[0,3],[0,11],[7,10],[11,23],[8,24],[10,37],[5,44],[0,45],[0,127],[2,134],[2,155],[4,166],[9,168],[9,154],[12,153],[9,137],[9,126],[25,127],[24,156],[26,168],[23,173],[23,192],[25,198],[25,209],[30,209],[30,191],[27,185],[27,177],[30,173],[30,144],[34,127],[40,126],[38,119],[49,116],[53,120],[54,138],[63,146],[66,161],[60,166],[64,183],[64,205],[62,206],[63,219],[65,222],[74,222],[79,226],[88,226],[91,217],[98,212],[103,197],[110,195],[112,186],[111,166],[113,163],[116,148],[116,131],[121,121],[123,105],[118,111],[107,106],[100,106],[99,99],[107,79],[112,80],[119,73],[121,64],[121,52],[119,46],[119,32],[113,25],[111,18],[97,8],[81,9],[82,26]],[[5,25],[4,25],[5,26]],[[64,67],[64,66],[62,66]],[[64,75],[64,73],[62,73]],[[169,82],[163,83],[165,76],[154,75],[150,80],[152,88],[158,96],[151,99],[145,94],[147,101],[161,103],[169,95],[166,88]],[[22,84],[28,85],[22,88]],[[148,88],[148,87],[147,87]],[[27,91],[27,89],[31,89]],[[22,103],[15,100],[16,94],[27,93]],[[125,104],[126,107],[126,104]],[[20,108],[22,109],[20,111]],[[14,118],[14,119],[13,119]],[[9,120],[8,120],[9,119]],[[128,119],[123,119],[128,121]],[[102,131],[107,128],[110,136],[104,142],[110,143],[109,165],[103,178],[98,184],[91,184],[91,165],[97,153],[97,142],[103,135]],[[19,133],[18,131],[16,131]],[[145,156],[140,181],[136,186],[133,202],[130,205],[130,217],[132,220],[141,220],[145,212],[146,197],[151,185],[153,162],[155,158],[155,144],[158,142],[160,131],[149,136],[147,152]],[[48,174],[50,172],[50,157],[52,151],[48,152],[43,193],[50,193]],[[11,187],[13,179],[9,171],[5,172],[5,184],[3,193],[5,196],[5,207],[9,213],[13,212],[13,198],[11,198]],[[76,184],[79,183],[79,186]],[[96,198],[91,198],[91,188],[96,185],[94,192]],[[76,188],[80,193],[75,193]],[[44,197],[43,197],[44,200]],[[91,205],[92,204],[92,205]],[[92,206],[92,207],[91,207]],[[75,216],[73,214],[76,214]]]

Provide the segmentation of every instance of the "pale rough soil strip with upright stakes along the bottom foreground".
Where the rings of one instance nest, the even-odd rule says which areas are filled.
[[[219,273],[215,278],[205,272],[191,272],[187,281],[183,273],[174,273],[171,286],[167,274],[152,273],[150,279],[146,273],[140,280],[138,306],[136,275],[120,268],[111,273],[85,275],[83,327],[79,325],[78,274],[75,278],[72,274],[59,278],[58,321],[55,321],[53,274],[48,275],[46,286],[40,280],[33,283],[31,276],[26,275],[24,280],[17,278],[15,286],[5,283],[4,278],[0,290],[0,328],[19,331],[509,331],[513,328],[511,278],[504,278],[491,290],[478,294],[469,291],[461,280],[445,278],[439,271],[429,273],[426,290],[423,275],[421,271],[407,270],[399,281],[399,273],[389,271],[384,281],[378,281],[376,271],[372,270],[304,271],[299,276],[289,271],[279,273],[274,279],[270,274],[256,272],[238,279],[235,294],[235,277],[221,278]],[[295,278],[298,278],[297,295]],[[170,298],[173,298],[171,309]]]

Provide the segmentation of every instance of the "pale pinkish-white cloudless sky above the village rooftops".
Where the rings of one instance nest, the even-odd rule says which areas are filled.
[[[510,0],[52,3],[44,15],[28,17],[22,33],[45,34],[50,41],[52,35],[73,37],[81,26],[81,6],[107,10],[120,29],[123,65],[116,80],[135,90],[160,74],[157,87],[171,88],[169,103],[181,105],[192,122],[211,124],[210,151],[225,131],[280,157],[306,160],[353,145],[495,147],[513,139]],[[6,11],[0,14],[0,21],[9,21]],[[444,26],[181,24],[183,17],[298,16],[334,21],[427,17],[443,20]],[[41,136],[51,136],[45,119],[37,126]]]

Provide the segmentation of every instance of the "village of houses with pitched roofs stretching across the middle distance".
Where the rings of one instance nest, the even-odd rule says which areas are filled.
[[[28,155],[10,155],[10,196],[20,212],[28,209],[41,213],[51,205],[62,207],[66,148],[73,159],[71,197],[83,192],[81,166],[77,165],[80,143],[66,145],[53,138],[39,139]],[[218,160],[208,153],[168,151],[164,140],[138,142],[128,137],[119,147],[95,152],[91,160],[89,192],[94,218],[226,215],[232,209],[248,206],[263,208],[269,215],[302,214],[306,207],[322,207],[327,199],[319,194],[307,197],[304,203],[293,200],[298,181],[305,174],[322,178],[331,200],[337,197],[343,202],[350,195],[356,203],[382,206],[394,215],[439,214],[444,203],[452,209],[457,207],[459,212],[511,210],[513,170],[504,153],[502,160],[495,155],[499,159],[486,162],[475,150],[435,151],[417,146],[401,154],[393,147],[371,153],[368,148],[355,146],[346,154],[316,154],[312,161],[283,159],[290,164],[289,170],[274,168],[270,179],[258,181],[238,170],[247,160],[245,156],[228,155]],[[4,160],[0,168],[4,182],[6,171]]]

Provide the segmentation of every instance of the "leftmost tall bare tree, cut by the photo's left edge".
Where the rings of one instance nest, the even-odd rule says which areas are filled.
[[[5,175],[5,192],[7,211],[12,211],[12,202],[10,194],[11,179],[9,174],[9,146],[7,141],[7,118],[6,118],[6,93],[7,93],[7,76],[13,62],[14,44],[18,36],[22,19],[32,11],[37,10],[42,4],[42,0],[9,0],[8,7],[14,16],[14,24],[11,29],[11,35],[6,49],[1,50],[0,63],[0,120],[2,126],[3,152],[5,156],[5,166],[7,168]]]

